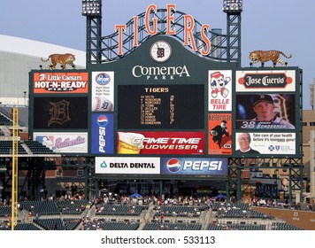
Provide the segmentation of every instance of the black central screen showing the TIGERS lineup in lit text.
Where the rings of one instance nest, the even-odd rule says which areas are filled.
[[[204,128],[204,85],[120,85],[120,129]]]

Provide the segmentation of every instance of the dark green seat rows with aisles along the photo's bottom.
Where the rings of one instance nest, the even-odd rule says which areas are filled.
[[[93,204],[76,198],[56,201],[26,200],[19,202],[19,221],[14,229],[303,230],[261,215],[253,211],[249,205],[219,203],[218,206],[216,211],[208,211],[199,205]],[[9,224],[11,211],[10,205],[0,206],[0,230],[11,229]],[[178,215],[173,218],[175,211]],[[195,215],[198,211],[201,213]],[[162,218],[162,214],[165,218]]]

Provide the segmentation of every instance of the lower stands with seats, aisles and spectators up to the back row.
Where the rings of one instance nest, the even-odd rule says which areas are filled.
[[[297,211],[280,201],[229,203],[225,198],[166,198],[104,194],[19,202],[16,230],[303,230],[260,209]],[[302,211],[302,210],[301,210]],[[311,212],[304,209],[303,212]],[[9,230],[11,205],[0,206],[0,230]]]

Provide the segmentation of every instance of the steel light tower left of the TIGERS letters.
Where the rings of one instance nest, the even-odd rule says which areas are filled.
[[[82,0],[82,15],[87,17],[87,67],[101,63],[102,0]]]

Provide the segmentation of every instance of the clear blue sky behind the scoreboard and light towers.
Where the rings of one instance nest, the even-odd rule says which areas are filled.
[[[309,85],[315,78],[315,1],[243,0],[242,66],[250,66],[252,50],[281,50],[288,66],[303,70],[303,109],[311,109]],[[223,0],[103,0],[102,35],[113,33],[115,24],[126,24],[150,4],[190,14],[201,24],[222,28],[227,15]],[[0,35],[12,35],[76,50],[86,48],[86,18],[81,0],[0,0]],[[0,44],[1,46],[1,44]],[[46,55],[43,55],[43,57]],[[257,66],[257,65],[255,65]],[[265,64],[271,66],[271,62]]]

